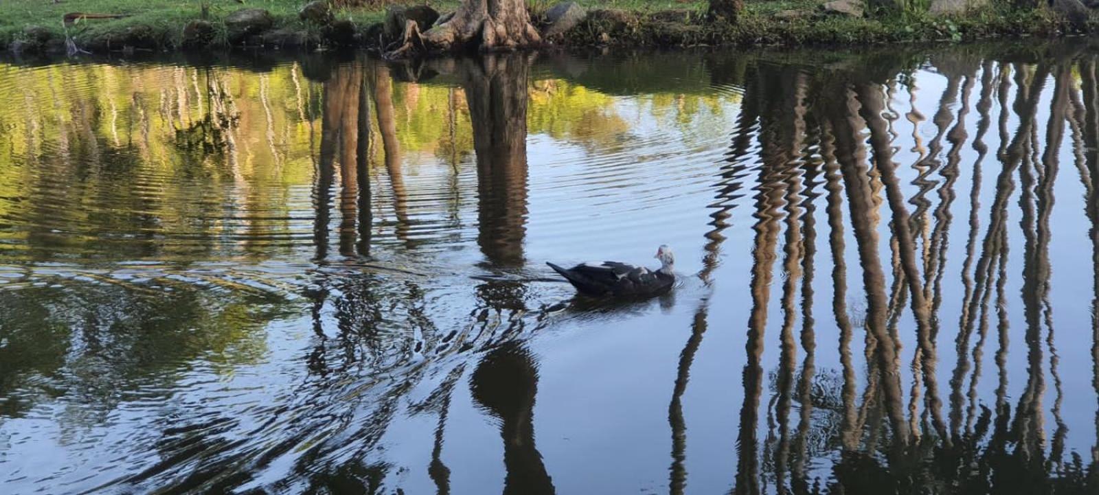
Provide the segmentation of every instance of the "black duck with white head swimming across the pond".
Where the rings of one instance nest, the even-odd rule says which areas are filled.
[[[660,260],[660,268],[656,270],[620,261],[586,262],[573,268],[562,268],[548,261],[546,265],[585,295],[653,296],[667,292],[676,281],[671,248],[662,245],[654,258]]]

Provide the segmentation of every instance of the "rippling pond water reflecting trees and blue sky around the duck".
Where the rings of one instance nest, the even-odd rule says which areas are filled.
[[[1097,61],[0,64],[2,492],[1094,494]]]

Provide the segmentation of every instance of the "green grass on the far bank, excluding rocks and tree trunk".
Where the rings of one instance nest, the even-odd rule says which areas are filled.
[[[54,3],[46,0],[7,0],[0,16],[0,47],[27,52],[57,52],[64,49],[69,36],[78,46],[92,52],[118,49],[175,49],[184,42],[184,26],[198,19],[206,19],[213,29],[211,47],[227,47],[223,20],[233,11],[259,8],[270,12],[274,25],[270,32],[281,33],[277,41],[259,41],[268,46],[304,45],[307,47],[333,45],[321,26],[302,21],[298,10],[303,0],[65,0]],[[368,2],[369,3],[369,2]],[[390,3],[422,3],[377,1],[353,9],[336,9],[335,19],[349,21],[358,36],[357,44],[368,44],[376,36],[365,33],[371,24],[380,22]],[[453,10],[458,0],[432,1],[440,12]],[[530,2],[535,19],[556,1]],[[1070,29],[1052,12],[1039,9],[1015,11],[988,7],[965,15],[932,16],[895,14],[876,18],[847,18],[825,15],[820,12],[820,0],[780,0],[750,2],[735,24],[708,24],[702,22],[704,0],[580,0],[587,9],[614,9],[615,15],[589,16],[569,31],[564,40],[568,45],[629,45],[629,46],[692,46],[692,45],[817,45],[866,44],[920,41],[963,41],[1012,35],[1056,35]],[[203,9],[206,5],[206,9]],[[85,19],[64,26],[65,14],[124,14],[123,19]],[[621,15],[624,13],[625,15]],[[1092,16],[1095,20],[1095,16]],[[285,34],[293,34],[286,36]],[[268,40],[276,40],[269,37]]]

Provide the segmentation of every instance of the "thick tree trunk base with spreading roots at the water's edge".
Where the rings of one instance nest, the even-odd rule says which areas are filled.
[[[441,52],[475,44],[480,49],[513,49],[542,41],[531,25],[524,0],[465,0],[448,21],[422,33],[421,27],[408,21],[403,44],[387,55],[392,58],[418,49]]]

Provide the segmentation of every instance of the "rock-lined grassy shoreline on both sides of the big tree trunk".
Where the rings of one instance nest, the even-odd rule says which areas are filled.
[[[414,7],[421,9],[422,7]],[[390,10],[412,10],[407,5]],[[429,8],[430,9],[430,8]],[[257,25],[234,25],[242,11],[260,11]],[[302,10],[304,12],[304,10]],[[532,10],[532,21],[550,27],[546,11]],[[140,20],[87,20],[81,30],[38,25],[22,31],[0,31],[0,50],[15,56],[110,54],[135,52],[201,52],[235,48],[270,50],[331,50],[340,48],[384,52],[391,43],[387,25],[404,16],[377,11],[362,21],[335,20],[325,11],[322,21],[304,13],[274,15],[262,9],[240,9],[220,21],[186,18],[149,24]],[[412,14],[410,14],[412,15]],[[433,14],[434,18],[439,13]],[[429,18],[431,19],[431,18]],[[79,21],[78,21],[79,22]],[[432,21],[434,22],[434,21]],[[400,22],[403,24],[403,22]],[[10,26],[9,26],[10,27]],[[688,47],[858,47],[882,44],[973,42],[992,38],[1056,38],[1099,32],[1095,13],[1086,23],[1073,23],[1048,9],[1013,10],[986,7],[965,14],[908,13],[878,18],[828,13],[820,9],[747,10],[735,23],[710,23],[691,9],[631,11],[590,9],[567,30],[547,36],[534,49],[688,48]]]

